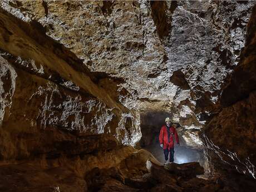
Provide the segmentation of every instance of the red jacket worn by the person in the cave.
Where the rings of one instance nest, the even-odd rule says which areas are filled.
[[[169,143],[168,143],[168,132],[167,132],[166,125],[161,127],[161,131],[159,134],[159,142],[160,142],[160,144],[164,144],[164,149],[167,149],[167,148],[170,149],[170,148],[174,147],[174,137],[175,137],[176,143],[179,144],[179,137],[178,137],[176,129],[173,126],[171,126],[169,129],[170,129],[170,142]]]

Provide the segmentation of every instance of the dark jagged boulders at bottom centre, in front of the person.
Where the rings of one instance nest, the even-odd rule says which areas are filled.
[[[142,155],[144,156],[144,155]],[[145,156],[144,156],[145,157]],[[144,161],[145,163],[145,161]],[[146,165],[137,166],[141,170],[147,168],[145,173],[137,173],[136,176],[126,178],[122,173],[122,168],[99,170],[95,169],[90,174],[95,175],[93,180],[87,180],[89,186],[95,191],[228,191],[231,186],[216,183],[217,178],[210,180],[196,178],[194,173],[199,164],[180,164],[179,168],[173,164],[173,168],[190,170],[187,175],[174,174],[169,171],[168,167],[160,166],[152,163],[150,160],[146,161]],[[201,168],[203,169],[203,168]],[[144,170],[145,171],[145,170]],[[192,173],[194,172],[194,173]],[[195,185],[196,184],[196,185]],[[225,190],[223,189],[225,186]],[[93,191],[93,190],[92,190]]]

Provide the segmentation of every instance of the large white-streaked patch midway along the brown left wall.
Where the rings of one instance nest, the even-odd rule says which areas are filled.
[[[80,95],[75,97],[63,95],[58,86],[52,82],[48,82],[47,87],[39,86],[29,100],[36,96],[43,99],[37,116],[42,127],[53,125],[68,130],[103,134],[107,123],[114,116],[112,110],[107,109],[105,104],[97,100],[82,102]],[[61,114],[58,111],[62,111]],[[90,124],[85,124],[86,116],[91,119]]]

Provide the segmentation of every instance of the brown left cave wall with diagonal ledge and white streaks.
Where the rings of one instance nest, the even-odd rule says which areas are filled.
[[[88,171],[118,166],[141,137],[121,80],[90,72],[36,21],[1,8],[0,23],[0,191],[87,191]]]

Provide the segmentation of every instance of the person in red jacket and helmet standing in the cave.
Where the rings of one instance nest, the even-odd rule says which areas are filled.
[[[164,149],[165,164],[174,161],[174,138],[176,144],[180,145],[177,131],[174,126],[171,126],[171,120],[167,117],[165,119],[165,125],[161,127],[159,134],[160,146]]]

